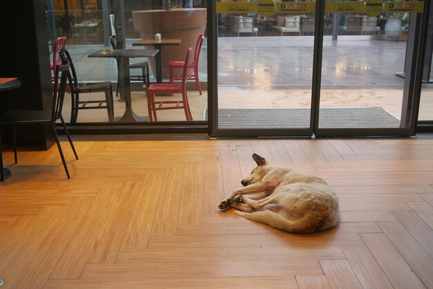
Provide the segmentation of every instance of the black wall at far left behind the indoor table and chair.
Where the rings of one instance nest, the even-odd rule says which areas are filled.
[[[18,77],[21,87],[0,96],[6,109],[50,109],[52,84],[45,0],[1,1],[0,77]],[[10,133],[3,128],[3,140]],[[46,149],[53,136],[46,126],[17,127],[18,145]]]

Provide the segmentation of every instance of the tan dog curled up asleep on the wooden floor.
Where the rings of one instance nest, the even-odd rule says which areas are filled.
[[[234,207],[236,213],[259,223],[264,223],[291,233],[311,233],[335,227],[340,223],[338,196],[324,179],[311,174],[273,167],[261,156],[253,154],[257,167],[235,189],[229,198],[219,204],[219,209]],[[265,193],[266,198],[252,200],[246,194]],[[262,209],[277,205],[277,212]]]

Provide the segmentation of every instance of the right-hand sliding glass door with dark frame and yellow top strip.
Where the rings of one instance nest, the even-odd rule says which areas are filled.
[[[326,1],[317,135],[410,135],[422,1]]]

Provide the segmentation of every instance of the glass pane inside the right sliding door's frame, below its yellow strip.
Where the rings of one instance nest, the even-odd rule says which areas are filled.
[[[409,13],[371,16],[357,4],[345,2],[350,13],[326,13],[319,127],[403,127]]]

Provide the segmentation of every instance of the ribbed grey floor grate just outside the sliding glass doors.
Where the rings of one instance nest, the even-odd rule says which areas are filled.
[[[208,120],[208,109],[203,111]],[[219,109],[220,129],[301,129],[310,126],[310,109]],[[398,128],[400,120],[382,107],[320,109],[319,127]]]

